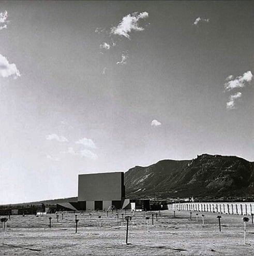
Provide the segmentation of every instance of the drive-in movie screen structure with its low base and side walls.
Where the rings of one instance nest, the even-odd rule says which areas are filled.
[[[78,201],[57,204],[57,211],[150,210],[150,200],[125,199],[124,172],[80,174]]]

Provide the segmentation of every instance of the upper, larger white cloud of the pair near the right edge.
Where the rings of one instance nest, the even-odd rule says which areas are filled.
[[[230,91],[234,88],[242,88],[246,84],[249,84],[253,78],[253,75],[250,71],[245,72],[242,76],[234,76],[230,75],[226,78],[227,83],[224,84],[225,90]]]

